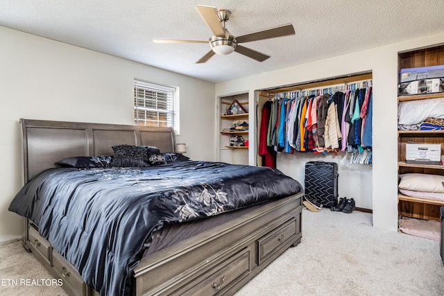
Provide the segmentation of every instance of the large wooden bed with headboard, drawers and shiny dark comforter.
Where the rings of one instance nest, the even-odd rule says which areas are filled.
[[[113,147],[122,144],[174,153],[176,138],[171,128],[20,122],[25,185],[10,210],[25,217],[24,247],[54,277],[63,279],[69,295],[232,295],[288,247],[300,243],[302,186],[278,171],[276,175],[274,169],[193,160],[146,168],[58,168],[60,159],[113,155]],[[243,175],[245,170],[253,175]],[[239,175],[234,173],[229,180],[215,177],[224,172]],[[93,183],[101,188],[89,196]],[[123,189],[113,187],[119,183],[136,190],[125,191],[119,200]],[[175,187],[169,188],[171,183]],[[198,193],[192,184],[200,188]],[[248,193],[239,190],[243,184]],[[65,191],[69,186],[75,190]],[[150,196],[151,204],[133,206],[133,200],[148,200],[134,198],[135,191]],[[195,202],[199,198],[189,198],[191,191],[200,204],[212,207],[202,206],[200,211]],[[154,193],[156,198],[151,197]],[[167,207],[169,203],[175,208]],[[107,204],[106,219],[101,219],[105,207],[99,204]],[[112,220],[110,213],[120,211],[109,210],[114,204],[125,205]],[[154,211],[146,216],[137,208]],[[36,209],[41,212],[36,214]],[[151,218],[157,212],[162,213]],[[102,238],[101,232],[108,236]]]

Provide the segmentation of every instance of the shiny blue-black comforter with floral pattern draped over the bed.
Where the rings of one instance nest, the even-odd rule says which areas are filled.
[[[132,271],[165,223],[214,216],[302,190],[275,168],[171,162],[142,168],[50,168],[9,210],[29,218],[101,295],[126,295]]]

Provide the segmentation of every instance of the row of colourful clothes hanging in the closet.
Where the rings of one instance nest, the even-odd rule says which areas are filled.
[[[267,155],[271,149],[274,153],[347,151],[362,153],[353,157],[371,163],[373,95],[371,85],[366,85],[352,84],[344,92],[333,93],[332,88],[297,92],[291,98],[276,95],[263,108],[260,134],[266,140],[261,138],[259,154]]]

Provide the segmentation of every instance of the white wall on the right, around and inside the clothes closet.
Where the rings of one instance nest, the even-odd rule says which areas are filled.
[[[357,199],[357,207],[372,208],[375,227],[396,231],[398,229],[398,51],[440,44],[443,40],[444,33],[440,33],[218,83],[216,97],[249,89],[250,106],[253,106],[251,104],[255,103],[254,91],[258,89],[373,71],[373,169],[359,174],[340,171],[339,181],[342,185],[339,187],[339,194],[345,195],[344,192],[341,193],[343,190],[346,194],[352,195],[348,197],[354,196]],[[250,126],[253,126],[251,121]],[[257,141],[255,134],[250,133],[249,137],[250,143]],[[304,163],[317,159],[316,157],[297,159],[293,156],[279,155],[278,168],[303,183]],[[253,157],[254,153],[251,151],[251,164],[255,163]],[[323,158],[325,161],[330,159],[338,162],[338,159],[332,156]]]

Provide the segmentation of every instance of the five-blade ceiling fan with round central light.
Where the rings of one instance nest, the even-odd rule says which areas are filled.
[[[239,45],[240,43],[252,42],[257,40],[265,40],[275,37],[282,37],[287,35],[294,35],[295,31],[292,24],[286,24],[283,26],[277,26],[275,28],[269,28],[263,31],[257,31],[253,33],[248,33],[245,35],[233,36],[225,28],[225,22],[230,19],[230,10],[216,10],[212,6],[196,6],[200,15],[210,27],[213,32],[213,36],[209,40],[183,40],[183,39],[153,39],[155,43],[209,43],[211,46],[211,51],[204,55],[196,63],[203,63],[209,60],[214,54],[218,55],[229,55],[233,51],[246,55],[248,58],[253,58],[259,62],[270,58],[269,55],[264,55],[264,53],[259,53],[259,51],[253,51],[253,49],[248,49],[244,46]]]

